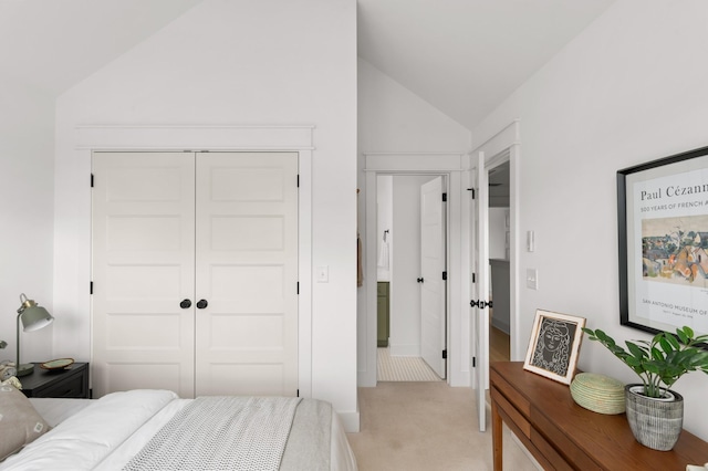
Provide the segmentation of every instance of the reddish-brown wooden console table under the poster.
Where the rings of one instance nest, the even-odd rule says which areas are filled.
[[[545,470],[685,471],[708,462],[708,443],[684,430],[671,451],[637,442],[624,414],[584,409],[566,385],[523,369],[490,365],[494,471],[502,470],[502,420]]]

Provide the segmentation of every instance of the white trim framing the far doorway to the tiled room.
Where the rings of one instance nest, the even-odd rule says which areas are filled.
[[[365,198],[365,238],[364,238],[364,287],[365,305],[357,310],[357,345],[360,356],[358,386],[376,386],[376,177],[378,175],[441,175],[448,182],[448,282],[449,301],[448,338],[448,378],[450,386],[469,386],[470,380],[470,332],[469,316],[462,315],[462,300],[469,299],[469,247],[462,241],[469,240],[469,210],[464,210],[462,192],[466,181],[465,153],[364,153],[366,185],[362,192]],[[465,335],[462,334],[465,333]]]

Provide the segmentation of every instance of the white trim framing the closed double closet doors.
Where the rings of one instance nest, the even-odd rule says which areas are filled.
[[[84,172],[86,188],[91,177],[91,154],[94,150],[229,150],[259,151],[283,150],[299,154],[300,192],[298,201],[299,252],[298,272],[300,296],[298,299],[298,384],[301,397],[312,397],[312,153],[314,125],[101,125],[85,124],[75,127],[75,168]],[[91,221],[91,193],[86,191],[86,205],[76,208],[79,220]],[[79,294],[81,286],[91,281],[91,223],[84,228],[83,239],[76,244],[85,247],[81,260],[63,259],[55,272],[75,273],[74,285],[69,292],[55,286],[54,304],[71,305],[76,323],[71,328],[92,332],[91,296]],[[87,262],[87,263],[86,263]],[[77,325],[81,324],[81,325]],[[73,331],[75,333],[75,331]],[[55,335],[61,335],[56,332]],[[71,335],[66,334],[69,338]],[[90,335],[90,334],[88,334]],[[90,336],[91,337],[91,336]],[[88,345],[85,356],[93,350]]]

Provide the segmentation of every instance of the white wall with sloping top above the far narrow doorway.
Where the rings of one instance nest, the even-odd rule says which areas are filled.
[[[459,153],[470,150],[470,133],[459,123],[397,82],[358,60],[358,186],[360,231],[366,233],[365,155],[368,153]],[[372,189],[375,190],[375,189]],[[374,219],[375,221],[376,219]],[[395,238],[396,234],[394,233]],[[364,252],[368,248],[364,245]],[[360,385],[372,377],[375,360],[367,357],[366,285],[357,292],[357,365]],[[373,293],[376,295],[376,293]],[[375,338],[371,339],[375,342]],[[375,352],[375,349],[373,349]],[[375,378],[375,371],[373,371]]]

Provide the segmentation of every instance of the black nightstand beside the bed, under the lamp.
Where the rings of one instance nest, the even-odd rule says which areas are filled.
[[[70,397],[91,399],[88,390],[88,364],[74,363],[60,370],[42,369],[34,364],[31,375],[18,378],[27,397]]]

